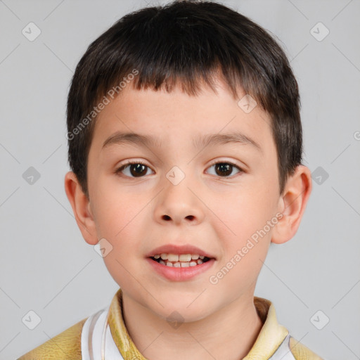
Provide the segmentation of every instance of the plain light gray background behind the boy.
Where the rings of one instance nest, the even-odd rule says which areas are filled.
[[[288,54],[302,96],[305,164],[314,175],[300,230],[271,246],[255,295],[271,300],[279,323],[314,352],[360,359],[360,1],[223,4],[274,33]],[[142,6],[0,1],[0,359],[107,306],[118,289],[83,240],[65,195],[65,103],[86,47]],[[34,41],[22,34],[30,22],[41,30]],[[322,41],[319,22],[330,31]],[[40,174],[32,185],[23,178],[29,167]],[[30,310],[41,318],[34,330],[22,321]]]

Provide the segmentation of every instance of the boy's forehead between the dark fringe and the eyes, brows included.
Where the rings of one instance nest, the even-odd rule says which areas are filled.
[[[110,101],[96,119],[93,140],[99,148],[120,143],[166,146],[186,139],[194,148],[238,142],[262,150],[272,138],[270,117],[240,89],[234,99],[225,86],[203,86],[196,96],[181,89],[137,90],[132,86]],[[239,101],[240,100],[240,101]],[[251,103],[250,105],[254,105]]]

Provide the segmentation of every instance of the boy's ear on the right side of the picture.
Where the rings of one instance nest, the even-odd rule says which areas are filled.
[[[304,214],[307,200],[311,193],[311,172],[304,165],[296,167],[292,176],[286,181],[285,189],[279,200],[279,212],[283,217],[278,217],[274,226],[271,242],[276,244],[286,243],[295,236]]]

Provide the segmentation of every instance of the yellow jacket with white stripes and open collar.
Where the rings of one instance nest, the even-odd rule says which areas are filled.
[[[274,305],[262,297],[254,304],[262,330],[243,360],[322,360],[278,324]],[[122,318],[122,290],[111,304],[17,360],[146,360],[132,342]]]

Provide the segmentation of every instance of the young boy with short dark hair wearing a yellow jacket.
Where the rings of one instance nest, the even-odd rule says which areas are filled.
[[[20,359],[321,359],[255,297],[311,192],[297,82],[261,27],[210,1],[130,13],[79,61],[65,191],[120,285]]]

